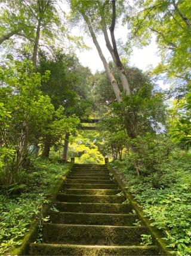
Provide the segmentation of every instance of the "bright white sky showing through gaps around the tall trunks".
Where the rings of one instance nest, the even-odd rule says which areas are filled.
[[[94,46],[93,40],[87,34],[79,31],[77,28],[73,29],[72,33],[73,35],[83,35],[84,43],[91,47],[91,49],[83,50],[82,52],[76,50],[76,54],[81,64],[85,67],[89,67],[93,73],[96,73],[97,70],[104,70],[103,64],[100,57],[98,56],[98,52],[96,46]],[[117,40],[120,38],[125,43],[125,41],[127,41],[127,28],[124,26],[119,26],[119,28],[115,30],[115,37]],[[107,61],[111,60],[111,56],[109,50],[107,50],[103,35],[99,35],[97,39]],[[143,71],[146,71],[151,67],[156,67],[160,61],[157,52],[158,49],[155,43],[155,37],[153,37],[149,46],[146,46],[143,49],[133,47],[133,52],[130,56],[130,65],[140,68]],[[167,85],[164,85],[162,80],[159,80],[157,83],[159,86],[161,86],[162,89],[167,89],[168,87]]]

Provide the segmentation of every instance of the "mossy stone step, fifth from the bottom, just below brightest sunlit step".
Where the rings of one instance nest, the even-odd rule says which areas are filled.
[[[70,203],[123,203],[124,195],[73,195],[58,194],[57,201]]]

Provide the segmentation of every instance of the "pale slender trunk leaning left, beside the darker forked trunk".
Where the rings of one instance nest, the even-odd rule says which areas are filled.
[[[101,61],[103,62],[104,68],[105,68],[105,70],[106,70],[107,77],[108,77],[108,79],[110,80],[110,83],[111,83],[111,85],[112,85],[112,87],[113,87],[113,91],[114,91],[114,93],[115,93],[116,100],[117,100],[118,102],[120,102],[120,101],[121,101],[121,92],[120,92],[120,90],[119,90],[119,86],[118,86],[118,84],[117,84],[117,82],[116,82],[116,80],[115,80],[115,77],[114,77],[113,74],[112,74],[112,71],[111,71],[110,68],[109,68],[109,65],[108,65],[108,63],[107,63],[107,61],[106,61],[106,58],[105,58],[104,55],[103,55],[103,52],[102,52],[102,50],[101,50],[101,47],[100,47],[100,45],[99,45],[99,43],[98,43],[98,41],[97,41],[96,35],[94,34],[93,28],[92,28],[92,26],[91,26],[90,20],[88,20],[88,17],[87,17],[84,13],[82,13],[82,16],[84,17],[84,20],[85,20],[85,22],[86,22],[87,25],[88,25],[88,29],[89,29],[89,31],[90,31],[91,37],[93,38],[93,42],[94,42],[94,44],[95,44],[95,46],[96,46],[98,55],[100,56],[100,59],[101,59]]]

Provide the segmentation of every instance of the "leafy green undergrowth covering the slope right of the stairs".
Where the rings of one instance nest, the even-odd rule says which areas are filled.
[[[158,173],[137,176],[128,162],[113,162],[127,189],[141,203],[152,225],[162,230],[177,255],[191,255],[191,154],[173,152]]]

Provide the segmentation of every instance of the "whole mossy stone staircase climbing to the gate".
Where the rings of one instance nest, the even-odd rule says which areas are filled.
[[[42,228],[43,243],[29,255],[159,255],[156,245],[140,245],[144,225],[134,225],[118,183],[105,165],[75,164]]]

